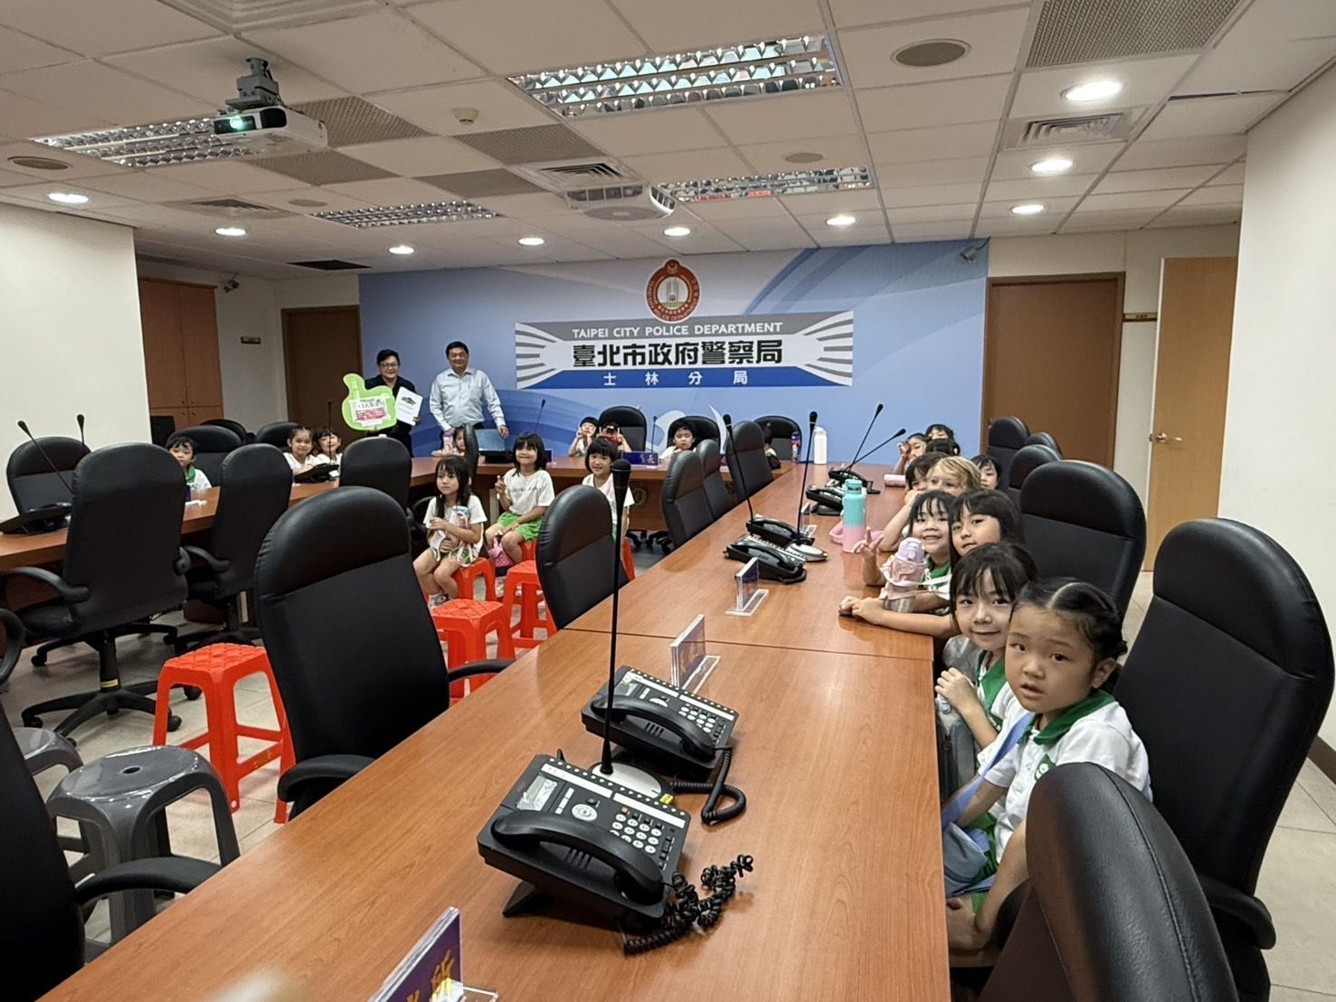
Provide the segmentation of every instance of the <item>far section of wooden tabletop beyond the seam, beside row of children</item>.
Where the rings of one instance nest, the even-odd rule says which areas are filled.
[[[888,466],[860,466],[867,477],[880,480]],[[826,482],[826,468],[814,468],[818,484]],[[794,524],[802,477],[784,477],[752,497],[758,514]],[[635,484],[635,476],[632,476]],[[904,492],[886,488],[867,498],[867,524],[880,529],[903,502]],[[724,546],[745,534],[747,506],[739,505],[685,546],[673,550],[621,591],[620,632],[652,637],[676,637],[696,617],[705,613],[705,636],[736,644],[771,648],[830,651],[844,655],[908,657],[930,661],[931,640],[912,633],[874,627],[840,616],[839,600],[846,595],[872,595],[863,585],[862,556],[846,554],[828,533],[839,522],[816,516],[816,545],[830,558],[807,564],[807,580],[784,585],[762,581],[770,595],[749,619],[725,615],[737,593],[733,574],[741,564],[727,560]],[[596,605],[570,624],[570,629],[608,632],[612,600]]]

